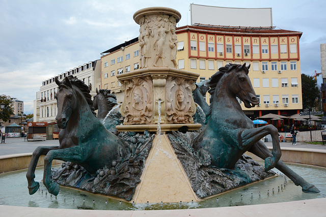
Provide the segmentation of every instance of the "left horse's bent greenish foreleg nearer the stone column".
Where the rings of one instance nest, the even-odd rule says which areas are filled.
[[[44,158],[44,174],[43,183],[50,194],[57,196],[59,194],[59,184],[51,179],[52,160],[72,161],[82,163],[88,158],[86,148],[82,149],[79,146],[74,146],[65,149],[50,150]]]

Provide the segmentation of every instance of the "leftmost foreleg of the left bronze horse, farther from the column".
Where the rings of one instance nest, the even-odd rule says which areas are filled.
[[[37,162],[39,161],[39,158],[41,155],[46,155],[49,150],[58,149],[59,146],[38,146],[34,151],[31,159],[31,163],[29,166],[29,169],[26,173],[26,178],[29,183],[29,193],[30,195],[34,194],[39,188],[40,183],[37,181],[34,181],[35,178],[35,168],[37,166]]]

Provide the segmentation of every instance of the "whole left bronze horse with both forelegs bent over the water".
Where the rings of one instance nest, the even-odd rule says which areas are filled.
[[[39,189],[39,183],[34,178],[41,155],[46,155],[43,183],[50,194],[58,195],[59,184],[51,179],[52,160],[70,161],[95,174],[98,169],[105,165],[110,167],[114,160],[128,154],[128,145],[107,131],[96,118],[90,89],[83,81],[68,76],[63,82],[56,78],[56,83],[59,86],[55,96],[58,104],[56,120],[58,127],[63,129],[59,133],[60,145],[39,146],[33,152],[26,174],[31,195]]]

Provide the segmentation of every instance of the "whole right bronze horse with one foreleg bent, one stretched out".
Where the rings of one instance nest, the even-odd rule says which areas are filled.
[[[306,193],[319,190],[288,168],[281,160],[278,130],[273,125],[255,128],[253,121],[242,111],[236,97],[246,108],[259,103],[251,85],[246,64],[227,64],[221,67],[209,81],[211,95],[206,114],[206,128],[195,139],[195,150],[204,149],[211,155],[211,165],[241,173],[235,164],[246,151],[265,160],[265,170],[276,167],[287,175],[295,185],[301,185]],[[260,141],[270,134],[273,150]],[[243,175],[243,174],[242,174]]]

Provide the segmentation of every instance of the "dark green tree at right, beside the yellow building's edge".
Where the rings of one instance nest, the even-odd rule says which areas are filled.
[[[320,97],[317,81],[312,76],[301,74],[302,80],[302,104],[304,109],[313,108],[315,99]]]

